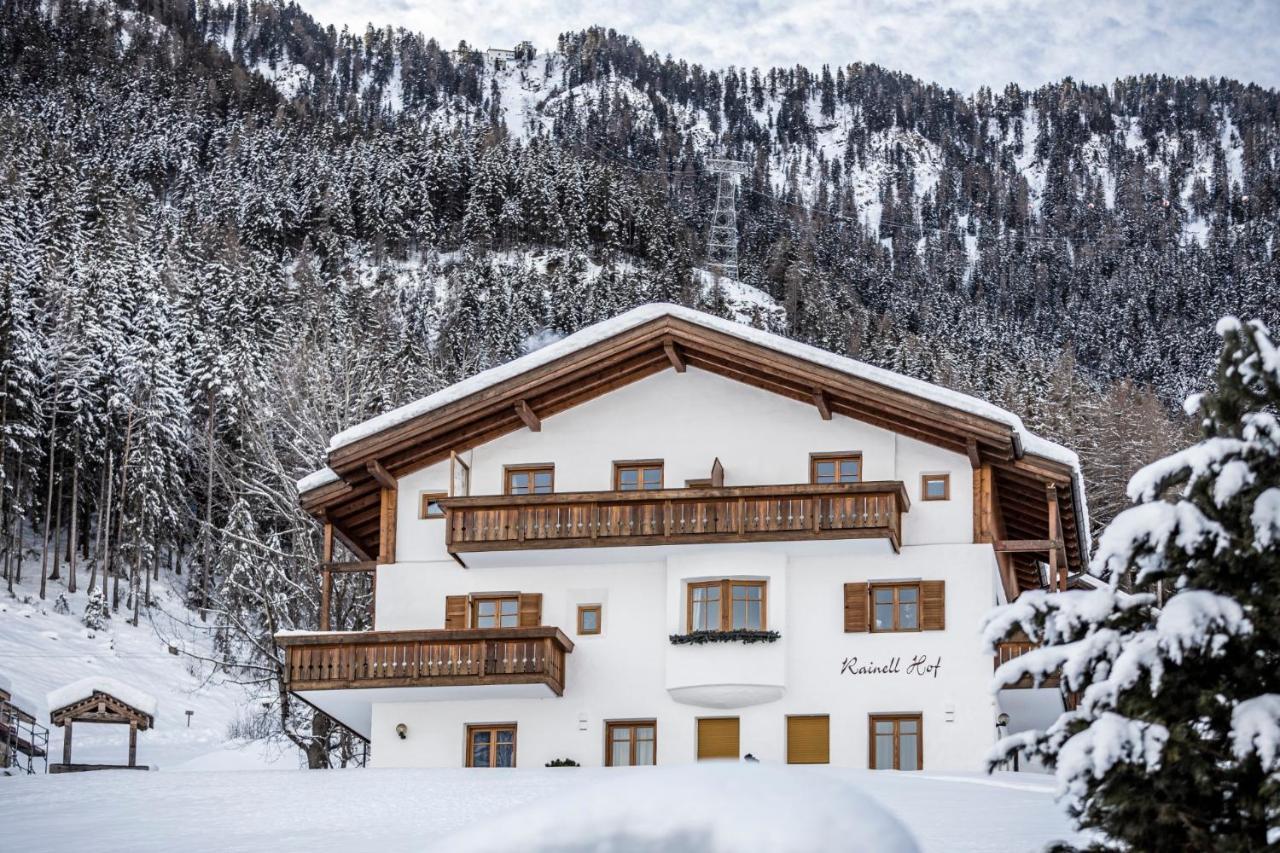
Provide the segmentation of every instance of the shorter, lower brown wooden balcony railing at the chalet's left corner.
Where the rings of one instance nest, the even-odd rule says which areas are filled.
[[[545,684],[564,693],[558,628],[276,634],[291,690]]]

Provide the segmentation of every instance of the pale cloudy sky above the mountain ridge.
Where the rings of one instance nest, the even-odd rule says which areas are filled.
[[[1162,72],[1280,86],[1280,0],[301,0],[324,23],[453,47],[603,24],[704,65],[879,63],[964,91]]]

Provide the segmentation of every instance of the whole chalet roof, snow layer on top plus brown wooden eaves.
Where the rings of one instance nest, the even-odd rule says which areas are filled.
[[[662,370],[710,371],[783,397],[968,455],[992,471],[1009,539],[1056,540],[1073,571],[1088,552],[1079,461],[989,402],[676,305],[653,304],[596,323],[511,362],[334,435],[326,467],[298,482],[302,506],[365,560],[383,535],[380,483],[449,459]],[[1034,558],[1015,555],[1019,585],[1038,587]],[[1034,573],[1034,578],[1033,578]]]

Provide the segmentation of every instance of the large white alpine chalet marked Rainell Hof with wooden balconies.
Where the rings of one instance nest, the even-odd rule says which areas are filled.
[[[1027,697],[1061,710],[992,694],[979,625],[1079,573],[1076,460],[983,401],[648,305],[326,461],[321,630],[278,642],[378,766],[975,770]],[[375,630],[328,630],[344,571]]]

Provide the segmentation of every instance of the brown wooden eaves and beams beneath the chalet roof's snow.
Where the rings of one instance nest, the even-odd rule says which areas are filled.
[[[539,429],[547,418],[581,402],[662,370],[682,373],[689,365],[813,406],[815,418],[845,415],[968,456],[975,470],[988,471],[984,482],[1000,508],[998,529],[992,525],[987,540],[1047,539],[1046,487],[1053,485],[1060,496],[1066,562],[1079,570],[1082,537],[1087,534],[1079,529],[1073,471],[1025,453],[1009,424],[675,314],[658,315],[334,448],[328,465],[340,479],[302,494],[302,506],[332,523],[335,535],[357,556],[371,560],[380,552],[381,489],[388,479],[518,429]],[[1009,561],[1019,574],[1019,585],[1039,585],[1038,579],[1033,581],[1033,557]]]

